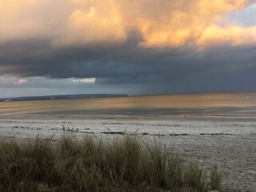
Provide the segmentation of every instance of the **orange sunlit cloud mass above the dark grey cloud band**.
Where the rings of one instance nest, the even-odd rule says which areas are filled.
[[[141,47],[256,43],[256,27],[237,26],[225,14],[250,0],[2,0],[0,42],[50,38],[52,46],[120,44],[130,30]],[[58,6],[57,6],[58,5]]]

